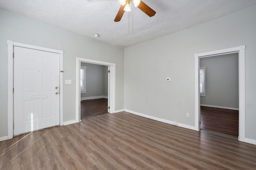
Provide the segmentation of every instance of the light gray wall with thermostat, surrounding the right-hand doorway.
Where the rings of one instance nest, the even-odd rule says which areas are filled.
[[[246,45],[246,138],[256,140],[255,16],[252,6],[126,48],[124,108],[194,127],[194,54]]]

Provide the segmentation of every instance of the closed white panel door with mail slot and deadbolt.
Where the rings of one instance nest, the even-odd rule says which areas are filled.
[[[59,59],[14,46],[14,135],[60,125]]]

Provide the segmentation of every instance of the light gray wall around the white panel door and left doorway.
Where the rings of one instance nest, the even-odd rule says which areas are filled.
[[[64,50],[64,121],[75,119],[76,57],[116,63],[116,110],[124,109],[124,49],[0,8],[0,137],[7,136],[6,40]],[[93,34],[93,33],[92,33]],[[92,36],[93,37],[93,36]]]

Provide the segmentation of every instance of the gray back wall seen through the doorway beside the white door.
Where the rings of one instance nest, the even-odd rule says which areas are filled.
[[[81,66],[86,66],[86,93],[82,93],[81,97],[103,96],[105,89],[108,90],[108,82],[107,84],[105,83],[105,76],[108,75],[108,66],[90,63],[81,63]],[[105,70],[106,73],[104,73]],[[108,96],[108,91],[106,96]]]

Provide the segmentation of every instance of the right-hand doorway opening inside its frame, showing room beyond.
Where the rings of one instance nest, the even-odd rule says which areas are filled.
[[[200,58],[200,127],[238,137],[238,53]]]

